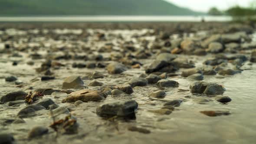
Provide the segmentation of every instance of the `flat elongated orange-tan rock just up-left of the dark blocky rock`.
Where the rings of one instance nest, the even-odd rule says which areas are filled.
[[[82,89],[76,92],[72,92],[64,99],[65,102],[75,102],[75,101],[101,101],[105,99],[107,95],[103,92],[93,91],[89,89]]]

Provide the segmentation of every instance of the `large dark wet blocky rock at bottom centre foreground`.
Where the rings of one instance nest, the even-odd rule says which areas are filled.
[[[135,119],[135,110],[137,108],[138,103],[135,100],[117,101],[99,106],[96,113],[101,117],[118,116]]]

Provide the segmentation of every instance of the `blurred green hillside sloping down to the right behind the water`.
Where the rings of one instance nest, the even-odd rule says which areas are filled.
[[[199,15],[164,0],[0,0],[0,15]]]

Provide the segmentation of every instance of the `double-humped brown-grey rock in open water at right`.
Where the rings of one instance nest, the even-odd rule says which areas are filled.
[[[190,85],[190,90],[192,93],[201,93],[201,94],[222,94],[226,90],[221,85],[207,82],[194,82]]]

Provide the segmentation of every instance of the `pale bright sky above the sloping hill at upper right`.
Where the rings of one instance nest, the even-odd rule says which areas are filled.
[[[247,7],[252,0],[166,0],[178,6],[188,7],[192,10],[207,12],[210,7],[217,7],[225,10],[228,7],[239,4]]]

